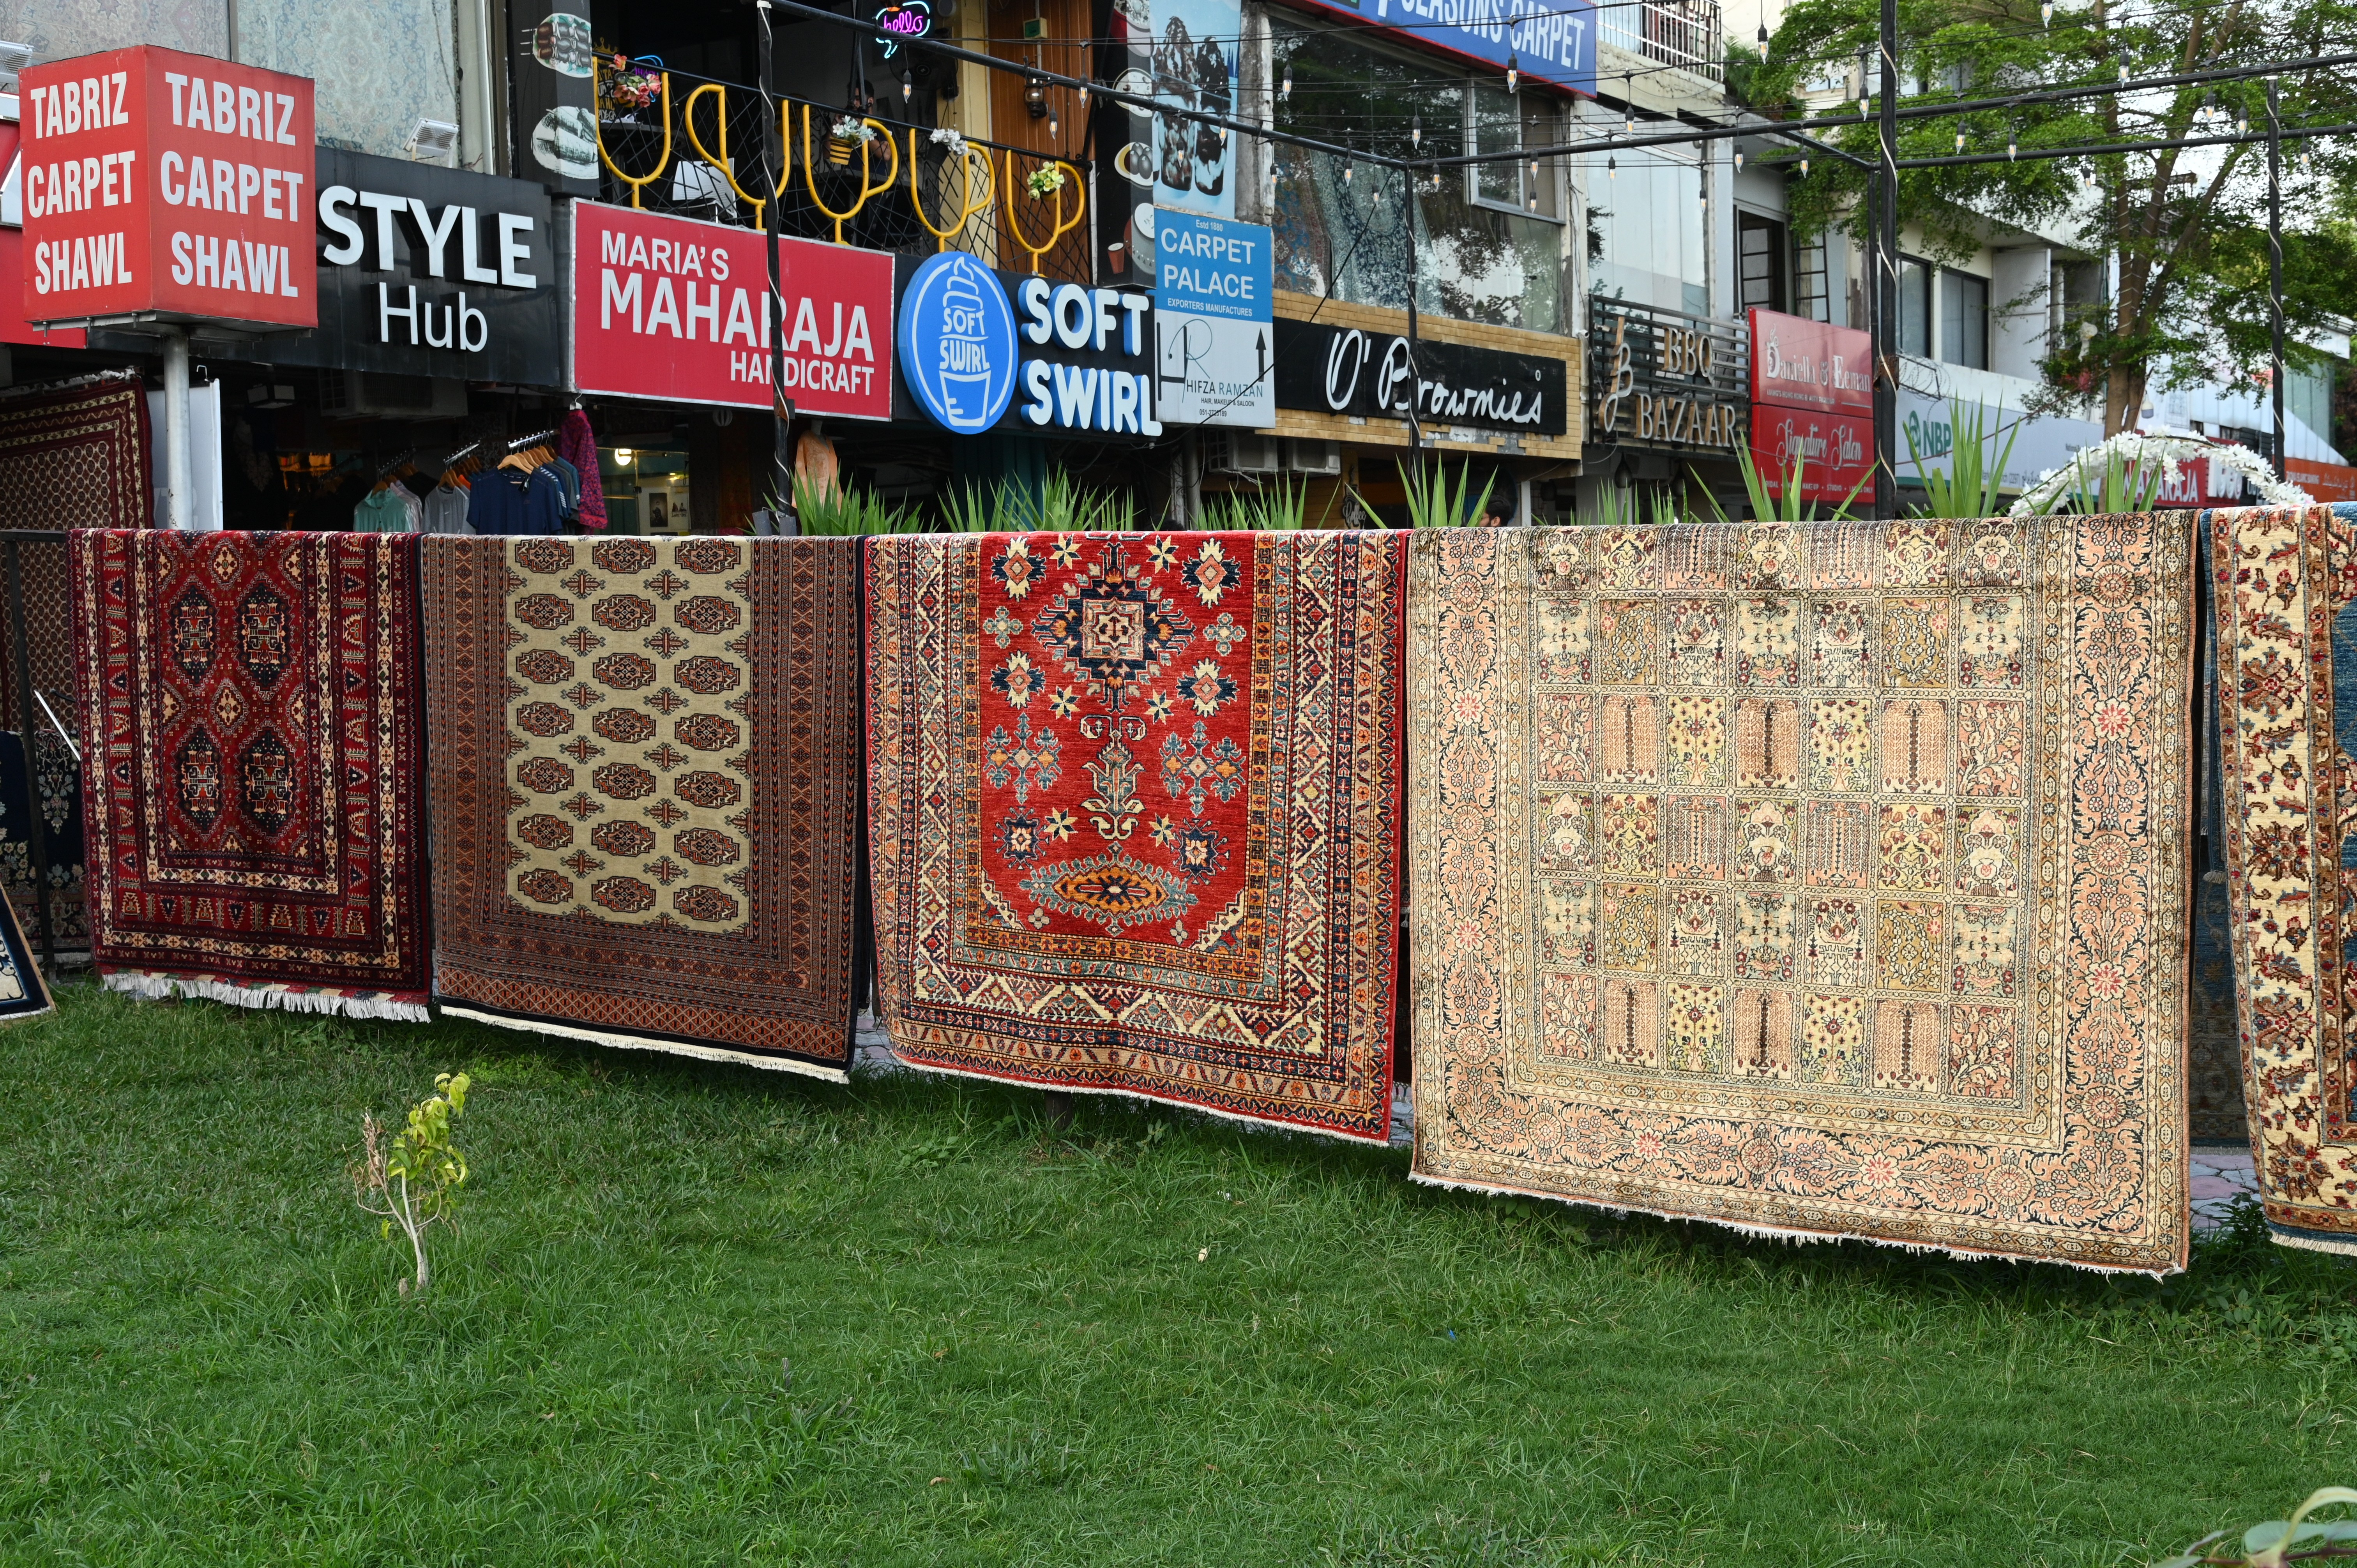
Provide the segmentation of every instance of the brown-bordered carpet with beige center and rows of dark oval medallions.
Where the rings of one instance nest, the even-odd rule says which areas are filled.
[[[427,540],[443,1012],[841,1080],[858,540]]]

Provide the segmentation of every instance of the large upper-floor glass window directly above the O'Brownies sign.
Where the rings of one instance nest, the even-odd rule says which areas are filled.
[[[1504,106],[1475,104],[1475,80],[1438,59],[1348,33],[1313,33],[1282,17],[1270,17],[1270,47],[1273,78],[1294,83],[1277,94],[1277,130],[1395,158],[1452,158],[1508,134],[1525,146],[1523,120],[1506,120]],[[1412,127],[1421,141],[1409,137]],[[1546,210],[1553,196],[1544,186],[1539,210],[1530,207],[1530,160],[1508,165],[1518,170],[1513,184],[1450,177],[1412,189],[1395,170],[1329,153],[1277,146],[1273,158],[1277,288],[1405,309],[1412,252],[1419,309],[1537,332],[1572,328],[1563,229],[1546,222],[1558,215]],[[1539,174],[1553,170],[1541,165]]]

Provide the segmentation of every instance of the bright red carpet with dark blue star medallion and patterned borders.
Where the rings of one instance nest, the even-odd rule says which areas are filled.
[[[870,863],[903,1061],[1384,1139],[1400,538],[879,538]]]

